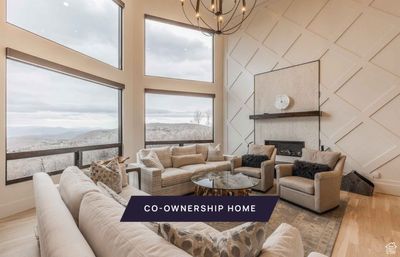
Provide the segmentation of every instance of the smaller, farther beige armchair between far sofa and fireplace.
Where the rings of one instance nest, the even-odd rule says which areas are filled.
[[[263,162],[261,168],[253,168],[243,167],[242,157],[235,157],[232,160],[232,170],[260,179],[260,183],[253,189],[265,192],[274,185],[276,148],[273,145],[250,145],[249,153],[267,155],[269,160]]]

